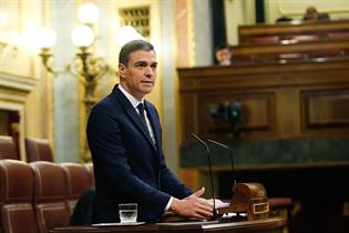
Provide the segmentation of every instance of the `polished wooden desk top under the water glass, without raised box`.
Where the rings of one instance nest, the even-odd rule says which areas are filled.
[[[219,232],[219,233],[281,233],[286,226],[283,217],[269,217],[266,220],[227,222],[227,223],[168,223],[168,224],[144,224],[138,226],[65,226],[57,227],[51,233],[114,233],[114,232],[171,232],[171,233],[199,233],[199,232]]]

